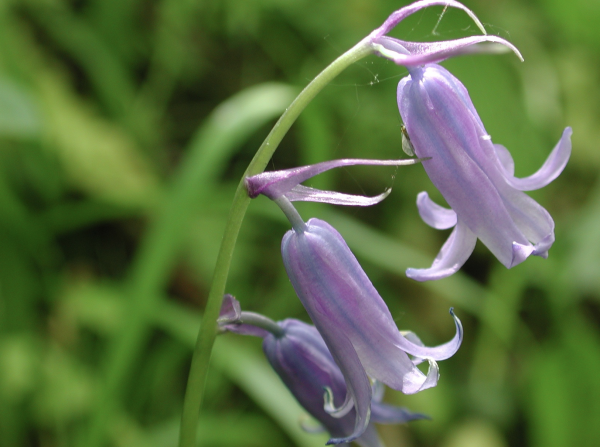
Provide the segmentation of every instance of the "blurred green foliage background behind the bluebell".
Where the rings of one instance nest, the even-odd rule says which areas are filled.
[[[401,329],[435,345],[465,327],[437,388],[387,401],[432,421],[381,427],[388,447],[559,447],[600,442],[600,3],[465,1],[523,53],[444,63],[469,89],[517,175],[574,129],[565,172],[531,195],[556,222],[547,260],[505,269],[478,243],[425,284],[447,237],[415,199],[419,166],[355,167],[315,187],[390,197],[370,209],[301,204],[343,234]],[[396,0],[5,0],[0,3],[0,446],[177,443],[191,349],[234,188],[275,119]],[[442,7],[393,35],[477,33]],[[371,56],[302,114],[269,169],[399,158],[402,67]],[[288,229],[249,209],[228,291],[273,319],[307,316],[279,255]],[[323,445],[258,339],[217,340],[204,446]]]

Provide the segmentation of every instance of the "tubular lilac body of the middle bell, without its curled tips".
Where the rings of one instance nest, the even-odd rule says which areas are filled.
[[[405,393],[433,386],[401,346],[423,356],[439,353],[424,352],[400,335],[385,302],[331,225],[310,219],[302,233],[286,233],[281,251],[298,297],[338,363],[343,356],[336,353],[336,340],[348,339],[370,377]],[[346,376],[348,368],[340,364],[340,369]]]

